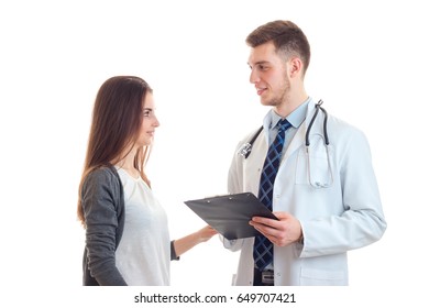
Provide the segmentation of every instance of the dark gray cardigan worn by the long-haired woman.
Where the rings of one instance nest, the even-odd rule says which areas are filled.
[[[112,166],[89,173],[81,188],[86,222],[84,251],[85,286],[127,286],[116,266],[116,250],[125,221],[121,179]],[[170,242],[170,258],[178,260]]]

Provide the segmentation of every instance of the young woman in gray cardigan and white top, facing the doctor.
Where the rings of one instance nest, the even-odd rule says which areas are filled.
[[[169,261],[217,233],[207,226],[170,242],[144,173],[158,125],[143,79],[117,76],[99,89],[79,186],[84,285],[169,285]]]

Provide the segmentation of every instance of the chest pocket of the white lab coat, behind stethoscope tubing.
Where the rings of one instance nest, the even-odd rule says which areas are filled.
[[[328,148],[306,148],[299,150],[295,184],[311,185],[315,188],[327,188],[332,184],[332,169]]]

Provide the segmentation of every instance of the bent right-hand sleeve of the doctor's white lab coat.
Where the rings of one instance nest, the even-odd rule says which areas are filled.
[[[359,130],[345,135],[336,153],[343,211],[301,221],[305,239],[301,257],[343,253],[369,245],[380,240],[386,229],[367,140]]]

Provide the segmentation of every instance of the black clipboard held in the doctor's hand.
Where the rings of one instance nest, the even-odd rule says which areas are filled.
[[[260,234],[249,224],[252,217],[278,220],[252,193],[188,200],[185,205],[228,240]]]

